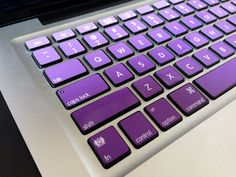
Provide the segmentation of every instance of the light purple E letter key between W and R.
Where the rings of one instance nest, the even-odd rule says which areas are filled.
[[[143,34],[139,34],[131,37],[128,42],[138,51],[143,52],[147,49],[150,49],[153,46],[153,43],[148,40]]]

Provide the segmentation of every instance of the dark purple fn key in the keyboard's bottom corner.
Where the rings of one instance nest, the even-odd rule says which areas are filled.
[[[113,126],[90,137],[88,143],[106,169],[131,153],[128,145]]]

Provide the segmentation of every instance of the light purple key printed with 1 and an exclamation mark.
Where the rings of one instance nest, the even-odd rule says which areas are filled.
[[[77,39],[70,39],[59,44],[59,48],[68,58],[80,55],[86,51],[84,46]]]

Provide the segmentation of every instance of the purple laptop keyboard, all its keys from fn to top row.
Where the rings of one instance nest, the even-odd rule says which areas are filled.
[[[143,111],[160,131],[168,131],[183,120],[180,112],[190,116],[236,84],[231,75],[236,58],[197,76],[235,54],[235,13],[235,0],[161,0],[28,40],[25,46],[65,109],[81,106],[71,117],[82,134],[157,96]],[[189,55],[194,49],[200,50]],[[112,91],[110,84],[119,89]],[[173,89],[166,98],[164,88]],[[159,130],[141,111],[120,120],[118,127],[137,149],[158,137]],[[131,153],[113,126],[91,135],[88,144],[104,168]]]

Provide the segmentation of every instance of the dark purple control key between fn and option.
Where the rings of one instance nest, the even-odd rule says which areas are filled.
[[[141,112],[120,121],[119,127],[135,148],[141,148],[158,136],[156,129]]]

